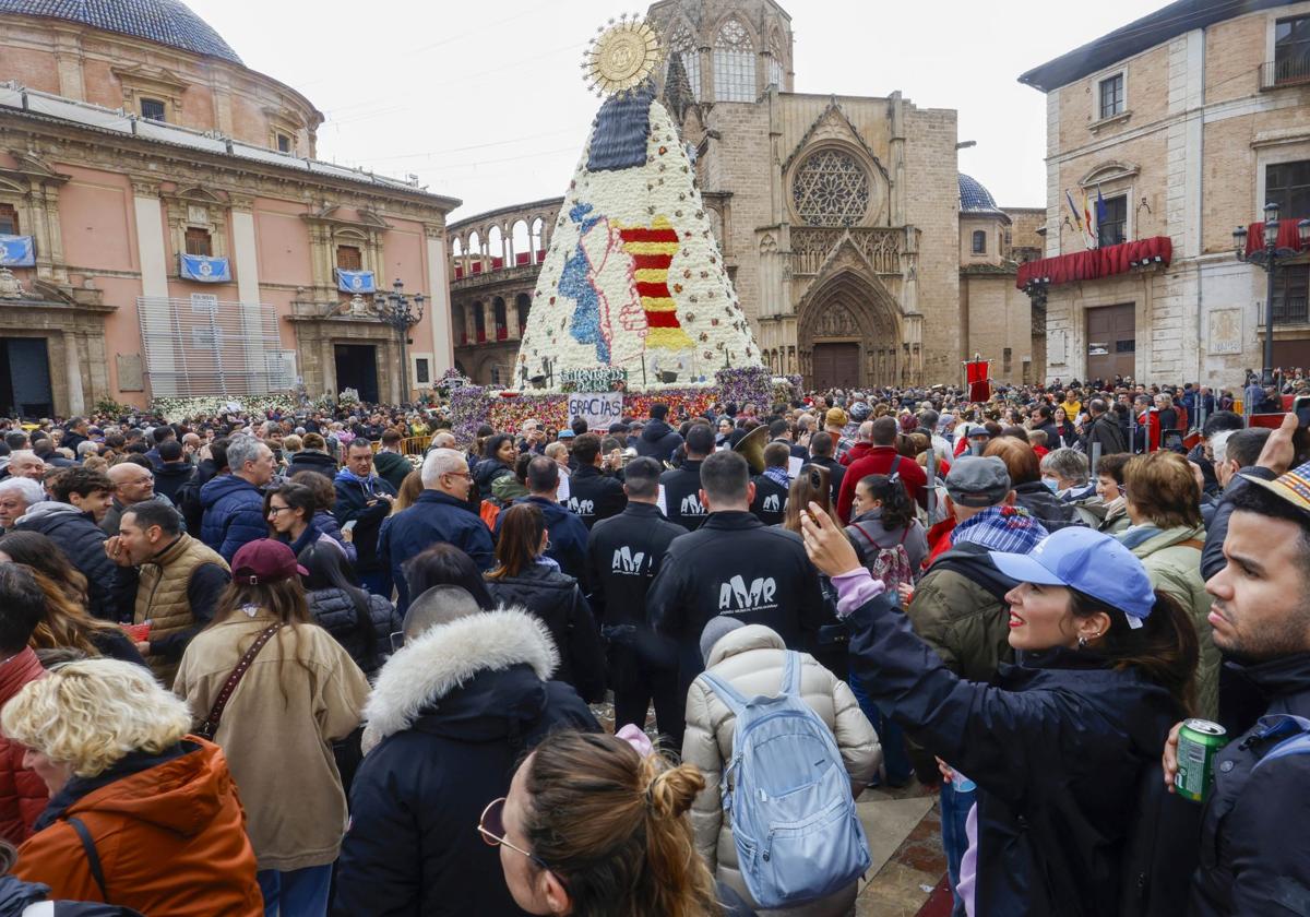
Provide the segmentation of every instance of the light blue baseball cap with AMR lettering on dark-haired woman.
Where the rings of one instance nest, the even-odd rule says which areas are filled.
[[[1142,626],[1155,604],[1150,576],[1117,538],[1082,525],[1062,528],[1038,542],[1030,554],[990,552],[992,562],[1010,579],[1064,586],[1091,596]]]

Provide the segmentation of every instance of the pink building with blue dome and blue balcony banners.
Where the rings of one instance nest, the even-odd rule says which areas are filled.
[[[0,0],[0,414],[397,402],[453,365],[458,200],[314,160],[322,115],[181,3],[68,7]],[[427,297],[403,375],[369,293],[396,280]]]

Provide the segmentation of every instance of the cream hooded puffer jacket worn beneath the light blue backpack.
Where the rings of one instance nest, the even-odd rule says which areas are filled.
[[[841,749],[841,760],[853,783],[867,783],[883,762],[869,718],[859,709],[845,681],[819,664],[814,656],[800,654],[800,694],[828,724]],[[752,624],[723,635],[714,645],[707,660],[709,671],[726,680],[745,697],[776,696],[782,686],[786,645],[772,629]],[[732,757],[732,734],[736,715],[709,688],[703,679],[692,683],[686,693],[686,732],[683,738],[683,760],[694,764],[705,777],[705,789],[692,806],[696,849],[720,882],[748,897],[738,870],[732,828],[723,819],[719,783],[724,761]],[[854,886],[849,889],[854,899]],[[841,895],[838,892],[838,895]],[[827,901],[827,899],[825,899]],[[849,907],[849,905],[848,905]],[[811,909],[787,913],[810,913]],[[825,908],[812,913],[827,913]],[[841,910],[837,910],[841,913]]]

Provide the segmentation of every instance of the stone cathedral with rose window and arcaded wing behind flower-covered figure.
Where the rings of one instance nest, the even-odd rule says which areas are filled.
[[[648,17],[665,48],[659,98],[765,365],[812,388],[952,384],[979,352],[997,380],[1041,376],[1014,287],[1017,262],[1040,253],[1040,219],[959,174],[954,110],[793,92],[791,17],[773,0],[660,0]],[[456,358],[477,381],[511,379],[515,303],[557,207],[449,227]]]

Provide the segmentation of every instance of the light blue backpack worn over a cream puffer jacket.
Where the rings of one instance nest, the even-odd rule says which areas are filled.
[[[741,878],[761,908],[831,895],[871,862],[837,740],[802,700],[800,669],[800,655],[787,652],[781,693],[749,701],[723,679],[700,676],[736,714],[723,811]]]

